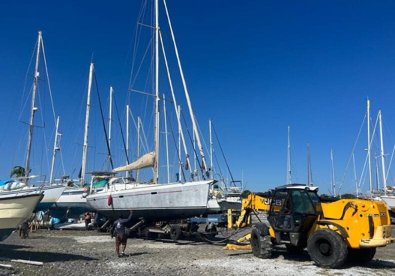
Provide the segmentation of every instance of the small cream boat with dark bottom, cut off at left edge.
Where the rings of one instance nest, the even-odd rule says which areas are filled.
[[[5,240],[21,222],[30,218],[31,212],[43,197],[42,192],[0,197],[0,241]]]

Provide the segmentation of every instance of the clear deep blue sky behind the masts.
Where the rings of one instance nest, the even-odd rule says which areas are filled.
[[[128,52],[139,7],[140,1],[97,1],[94,4],[7,1],[2,4],[0,178],[7,177],[10,168],[24,160],[27,127],[19,120],[28,120],[26,111],[30,103],[27,102],[22,113],[20,106],[36,31],[43,29],[55,113],[61,117],[65,170],[68,174],[73,172],[75,177],[80,166],[78,143],[83,140],[83,102],[92,52],[102,103],[108,100],[108,85],[114,85],[124,125],[131,68]],[[385,152],[391,154],[395,141],[393,1],[169,0],[168,8],[204,139],[208,141],[207,120],[212,118],[233,176],[240,179],[243,171],[247,189],[262,191],[285,182],[286,135],[290,125],[293,180],[306,182],[308,141],[314,183],[321,192],[327,192],[331,181],[329,151],[331,148],[334,151],[335,177],[339,182],[365,113],[367,95],[371,99],[373,123],[378,108],[382,108]],[[160,22],[164,24],[164,20],[161,14]],[[165,46],[170,52],[170,36],[163,29]],[[175,59],[173,56],[169,59],[173,64],[172,74],[176,76]],[[40,72],[44,76],[42,66]],[[161,90],[168,92],[165,71],[161,73]],[[28,76],[25,93],[31,81]],[[46,93],[42,102],[47,104],[40,111],[45,111],[50,157],[53,118],[45,82],[40,83],[40,87],[42,95]],[[175,88],[183,104],[180,83]],[[93,105],[89,143],[95,148],[89,148],[88,170],[99,170],[105,159],[100,153],[104,153],[105,148],[98,106]],[[131,106],[134,110],[132,103]],[[183,109],[186,111],[186,106]],[[134,114],[138,113],[139,110]],[[151,132],[149,119],[147,116],[147,132]],[[42,124],[40,120],[36,122]],[[174,120],[172,124],[175,128]],[[119,157],[119,129],[114,128],[113,140],[117,141],[114,162],[118,166],[123,161]],[[38,128],[34,131],[42,133]],[[134,133],[133,129],[131,135]],[[39,173],[42,153],[39,135],[33,150],[33,174]],[[173,143],[172,138],[170,141]],[[130,140],[134,142],[135,139]],[[364,127],[355,153],[358,178],[365,144]],[[377,152],[376,142],[373,147]],[[215,150],[219,157],[217,146]],[[386,159],[389,163],[389,156]],[[344,192],[353,190],[350,172]],[[58,159],[55,175],[61,174]],[[393,180],[388,177],[388,181]],[[363,190],[367,186],[365,181]]]

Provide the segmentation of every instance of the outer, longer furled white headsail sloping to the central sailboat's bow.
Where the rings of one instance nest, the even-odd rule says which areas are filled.
[[[200,156],[201,156],[201,162],[202,162],[202,168],[201,169],[202,170],[206,170],[207,166],[206,166],[206,162],[205,162],[203,147],[201,146],[201,143],[200,143],[200,136],[199,136],[199,133],[197,131],[196,122],[195,122],[194,115],[193,115],[193,109],[192,109],[192,105],[191,105],[190,99],[189,99],[188,89],[186,88],[186,82],[185,82],[184,74],[183,74],[182,67],[181,67],[181,61],[180,61],[179,55],[178,55],[177,45],[175,43],[173,28],[171,27],[170,17],[168,15],[168,11],[167,11],[166,1],[163,0],[163,3],[164,3],[164,9],[166,10],[167,21],[168,21],[168,25],[169,25],[169,28],[170,28],[171,38],[172,38],[173,44],[174,44],[175,56],[177,58],[179,73],[181,75],[182,85],[183,85],[184,92],[185,92],[185,97],[186,97],[186,102],[187,102],[188,108],[189,108],[189,115],[190,115],[190,119],[192,121],[193,132],[195,133],[197,147],[199,148],[199,152],[200,152]]]

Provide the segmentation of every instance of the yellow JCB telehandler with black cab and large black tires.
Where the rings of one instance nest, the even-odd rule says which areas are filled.
[[[310,258],[321,267],[337,268],[345,260],[366,263],[377,247],[394,242],[384,202],[362,199],[337,199],[323,202],[317,187],[287,185],[268,192],[268,197],[250,194],[242,200],[241,212],[228,210],[228,228],[251,227],[254,211],[267,211],[265,223],[254,223],[250,234],[239,239],[254,256],[270,258],[273,245],[290,252],[307,247]],[[241,249],[227,245],[224,249]]]

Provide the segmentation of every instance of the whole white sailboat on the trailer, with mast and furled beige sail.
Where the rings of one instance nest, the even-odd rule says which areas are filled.
[[[202,171],[206,168],[205,158],[203,149],[201,147],[199,134],[197,131],[193,110],[191,107],[188,91],[186,89],[186,83],[183,76],[178,50],[175,44],[174,34],[168,15],[166,2],[163,1],[164,8],[166,11],[168,25],[171,32],[171,37],[175,49],[175,55],[177,57],[178,68],[180,71],[182,84],[185,92],[186,101],[188,104],[189,114],[192,121],[193,132],[197,141],[198,152],[200,152],[202,160]],[[216,182],[213,179],[204,180],[207,174],[202,174],[203,180],[191,180],[188,181],[184,177],[183,182],[174,183],[158,183],[158,167],[159,167],[159,37],[160,44],[162,47],[163,58],[167,69],[167,77],[169,81],[170,91],[180,129],[180,114],[177,112],[177,104],[175,101],[173,87],[171,83],[170,74],[167,66],[167,59],[164,52],[164,46],[162,43],[162,37],[159,32],[158,23],[158,0],[154,1],[154,17],[155,25],[154,29],[154,64],[155,64],[155,85],[154,85],[154,150],[148,152],[136,161],[113,169],[113,173],[128,172],[132,170],[142,170],[144,168],[153,168],[152,183],[142,182],[129,182],[124,184],[112,183],[105,187],[102,191],[89,194],[86,199],[88,205],[96,210],[97,213],[104,215],[108,218],[117,218],[119,213],[123,215],[128,214],[129,210],[134,211],[132,220],[136,221],[138,218],[144,218],[145,222],[157,222],[157,221],[171,221],[177,219],[190,218],[193,216],[199,216],[206,212],[207,200],[208,200],[208,189],[209,186]],[[164,100],[164,99],[163,99]],[[181,139],[184,145],[184,151],[187,158],[187,164],[189,164],[189,158],[186,151],[186,146],[183,139],[182,131]],[[182,172],[183,173],[183,172]],[[169,181],[167,181],[169,182]],[[93,190],[93,183],[91,182],[91,188]]]

